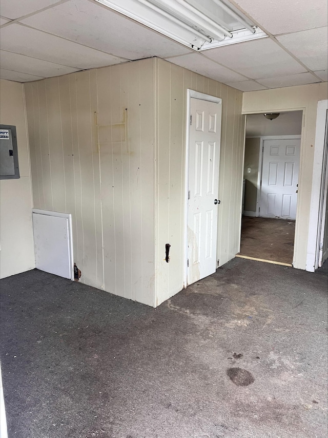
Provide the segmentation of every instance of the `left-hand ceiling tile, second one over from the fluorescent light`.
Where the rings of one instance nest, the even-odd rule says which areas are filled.
[[[57,64],[87,69],[127,61],[19,24],[6,26],[0,34],[3,50]]]

